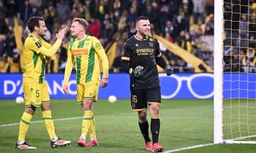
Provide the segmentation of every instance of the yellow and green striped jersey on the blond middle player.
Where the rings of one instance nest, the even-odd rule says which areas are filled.
[[[103,78],[108,78],[108,57],[97,38],[86,35],[82,40],[76,38],[70,41],[64,84],[68,84],[74,62],[77,84],[100,80],[99,60],[102,62]]]

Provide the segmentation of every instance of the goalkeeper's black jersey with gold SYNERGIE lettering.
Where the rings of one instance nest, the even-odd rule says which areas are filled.
[[[143,66],[143,76],[140,78],[130,75],[131,89],[145,89],[159,86],[156,57],[161,55],[159,43],[156,39],[148,36],[141,40],[132,36],[125,41],[122,50],[122,59],[129,61],[129,67]]]

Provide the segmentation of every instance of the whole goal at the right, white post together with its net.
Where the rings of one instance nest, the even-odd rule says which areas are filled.
[[[246,0],[245,0],[246,1]],[[248,20],[246,21],[233,21],[232,17],[230,20],[230,23],[232,22],[239,22],[239,29],[232,29],[232,26],[230,27],[231,33],[237,33],[238,36],[240,37],[241,31],[248,34],[248,38],[246,39],[240,39],[237,38],[237,36],[229,36],[228,39],[231,41],[241,41],[241,40],[246,40],[247,41],[247,47],[242,47],[239,45],[235,46],[230,43],[230,63],[228,63],[230,66],[230,71],[225,71],[223,70],[223,67],[225,65],[225,62],[223,60],[223,52],[224,52],[224,47],[225,44],[223,45],[223,36],[225,36],[225,27],[223,26],[224,23],[224,16],[223,16],[223,11],[224,9],[224,4],[228,3],[230,6],[233,6],[233,1],[225,1],[225,0],[215,0],[214,1],[214,143],[252,143],[256,144],[256,77],[255,71],[246,71],[244,69],[240,68],[256,68],[255,64],[247,64],[246,66],[240,65],[241,64],[241,59],[247,58],[248,60],[249,55],[248,52],[249,50],[256,50],[256,48],[250,47],[249,43],[249,34],[250,33],[256,33],[256,31],[250,31],[249,25],[250,24],[255,24],[250,22],[250,17],[253,16],[253,14],[250,14],[250,3],[249,0],[248,5],[245,4],[234,4],[240,7],[246,7],[248,8],[247,13],[241,13],[239,14],[240,17],[242,15],[248,17]],[[240,10],[241,11],[241,10]],[[228,13],[234,13],[233,10],[231,10]],[[237,12],[235,12],[237,13]],[[256,14],[255,14],[256,16]],[[240,29],[240,24],[245,23],[248,24],[247,30],[241,30]],[[256,34],[255,34],[256,35]],[[256,38],[254,38],[256,40]],[[239,52],[237,54],[233,55],[232,54],[232,47],[238,48]],[[241,54],[240,50],[245,50],[247,52],[245,55]],[[226,54],[225,54],[226,55]],[[233,72],[232,70],[232,58],[234,56],[239,57],[239,70]],[[256,59],[256,52],[255,52],[255,59]],[[248,61],[247,61],[248,62]],[[227,66],[227,64],[226,64]],[[226,78],[225,80],[225,75],[230,75],[230,80]],[[247,77],[244,77],[244,75]],[[233,77],[236,76],[236,80],[232,80]],[[244,80],[242,78],[245,78]],[[251,77],[254,77],[252,79]],[[228,82],[230,84],[230,89],[223,89],[225,83]],[[237,82],[237,87],[236,89],[232,87],[233,84],[236,84]],[[242,87],[245,84],[246,87]],[[253,88],[251,88],[253,86]],[[230,92],[226,95],[224,92],[227,91]],[[247,90],[247,91],[246,91]],[[237,95],[234,96],[233,92],[236,91]],[[245,92],[246,96],[241,96],[243,95],[242,92]],[[242,94],[241,94],[242,93]],[[224,99],[224,100],[223,100]],[[225,103],[226,102],[226,103]],[[225,112],[225,108],[227,108],[227,112]],[[229,114],[228,114],[229,113]],[[227,119],[225,119],[227,118]],[[226,133],[225,133],[226,131]],[[227,134],[228,133],[228,134]],[[228,136],[227,136],[228,135]]]

